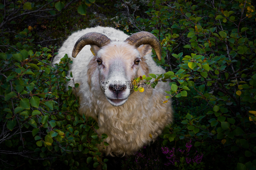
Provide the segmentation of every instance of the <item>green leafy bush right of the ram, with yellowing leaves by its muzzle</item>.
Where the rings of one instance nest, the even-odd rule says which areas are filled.
[[[150,76],[171,86],[164,102],[174,100],[175,122],[164,131],[162,144],[163,153],[177,154],[176,161],[168,157],[175,169],[198,168],[199,162],[188,163],[188,155],[176,153],[190,140],[203,155],[201,169],[255,169],[252,5],[242,0],[158,0],[148,4],[149,20],[134,16],[138,27],[159,37],[163,55],[156,62],[170,70]]]

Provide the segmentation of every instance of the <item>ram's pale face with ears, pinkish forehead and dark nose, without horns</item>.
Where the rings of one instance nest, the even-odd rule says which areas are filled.
[[[151,46],[135,48],[126,42],[111,42],[102,48],[92,45],[92,50],[103,93],[113,106],[121,106],[133,92],[133,79],[148,74],[143,56],[151,52]],[[103,82],[109,83],[107,88]]]

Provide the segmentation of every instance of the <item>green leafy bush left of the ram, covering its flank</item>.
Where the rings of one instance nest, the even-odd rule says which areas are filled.
[[[107,135],[96,133],[95,120],[77,114],[73,89],[64,92],[66,81],[73,81],[66,77],[70,59],[66,55],[53,66],[56,47],[39,45],[40,50],[33,52],[31,36],[26,28],[16,35],[16,45],[0,53],[0,159],[4,167],[60,169],[55,164],[62,162],[71,169],[99,164],[106,169],[107,159],[101,160],[96,144],[108,145],[103,142]]]

